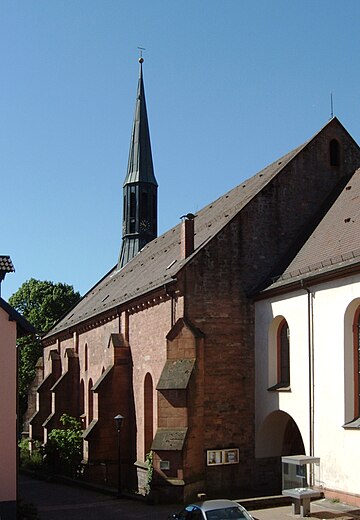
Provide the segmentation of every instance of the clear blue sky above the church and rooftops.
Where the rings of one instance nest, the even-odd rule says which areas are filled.
[[[358,0],[1,0],[1,249],[84,294],[121,245],[138,78],[159,234],[334,112],[360,142]]]

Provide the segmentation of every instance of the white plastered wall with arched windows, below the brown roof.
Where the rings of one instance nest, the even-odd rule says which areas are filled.
[[[358,494],[360,430],[344,428],[353,419],[352,325],[360,304],[360,275],[319,284],[313,293],[314,450],[321,459],[325,489]],[[290,329],[291,391],[269,391],[274,384],[273,330],[284,317]],[[256,435],[272,412],[296,422],[309,453],[308,295],[304,289],[256,303]],[[258,443],[256,456],[268,456]]]

